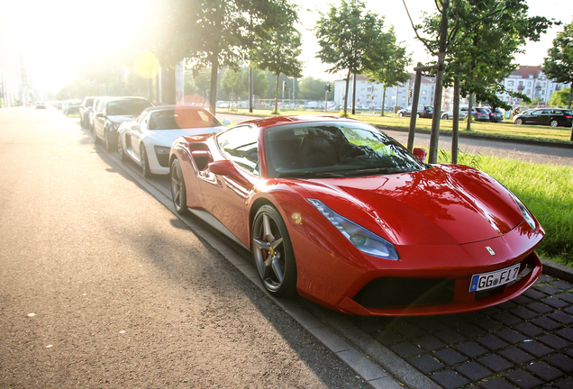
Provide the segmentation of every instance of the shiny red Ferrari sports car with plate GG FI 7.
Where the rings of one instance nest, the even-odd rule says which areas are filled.
[[[395,316],[522,294],[541,274],[539,222],[491,176],[424,154],[364,122],[264,118],[178,138],[171,193],[250,249],[273,295]]]

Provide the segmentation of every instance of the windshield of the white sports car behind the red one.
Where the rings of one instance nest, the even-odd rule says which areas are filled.
[[[179,130],[222,126],[202,109],[176,108],[151,113],[150,130]]]

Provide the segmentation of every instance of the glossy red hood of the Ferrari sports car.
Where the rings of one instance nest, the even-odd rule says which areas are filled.
[[[523,222],[505,187],[469,167],[434,166],[390,176],[305,180],[302,185],[332,211],[395,244],[489,240]]]

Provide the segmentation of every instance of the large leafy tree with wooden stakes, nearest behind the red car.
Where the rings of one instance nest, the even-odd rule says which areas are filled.
[[[511,64],[514,53],[520,52],[528,40],[539,41],[552,22],[545,17],[529,16],[528,6],[517,0],[436,0],[435,3],[437,12],[426,16],[423,25],[413,25],[417,38],[438,57],[434,112],[441,111],[441,77],[446,63],[449,64],[446,84],[448,76],[450,80],[458,77],[462,95],[476,95],[481,101],[503,106],[496,92],[505,90],[500,81],[514,69]],[[437,160],[439,129],[440,115],[433,115],[430,163]],[[453,143],[457,144],[457,140]]]

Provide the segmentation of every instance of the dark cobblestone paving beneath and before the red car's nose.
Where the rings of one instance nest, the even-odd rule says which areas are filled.
[[[447,389],[573,388],[573,285],[546,274],[478,312],[351,320]]]

